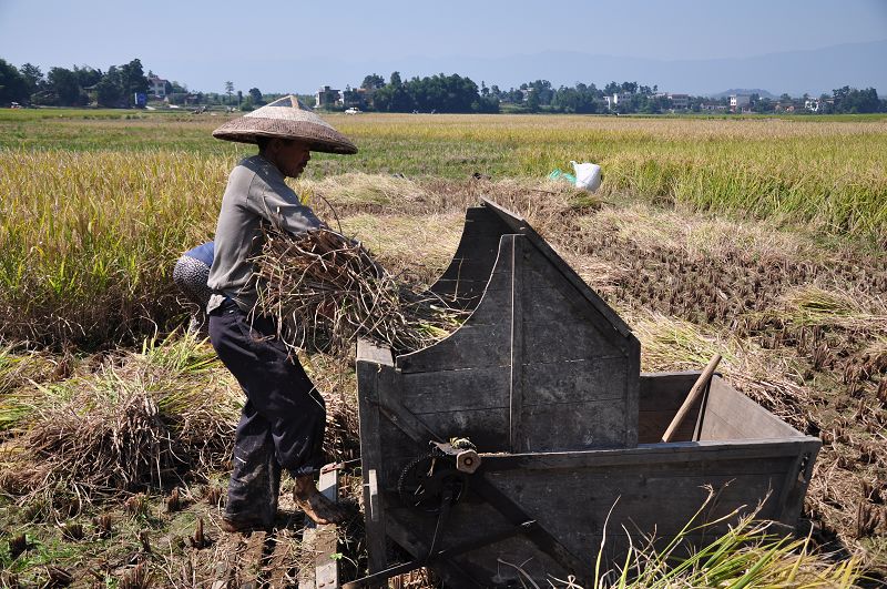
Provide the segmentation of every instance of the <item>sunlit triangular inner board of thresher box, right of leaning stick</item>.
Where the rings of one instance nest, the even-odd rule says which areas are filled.
[[[712,378],[701,439],[793,438],[795,428],[726,384]]]

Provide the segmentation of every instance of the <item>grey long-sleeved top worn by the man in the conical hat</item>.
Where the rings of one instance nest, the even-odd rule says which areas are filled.
[[[249,258],[262,251],[262,227],[272,223],[296,235],[322,226],[314,212],[286,185],[279,170],[263,156],[253,155],[228,175],[208,282],[211,288],[230,296],[246,312],[257,301]],[[207,311],[220,304],[221,297],[213,297]]]

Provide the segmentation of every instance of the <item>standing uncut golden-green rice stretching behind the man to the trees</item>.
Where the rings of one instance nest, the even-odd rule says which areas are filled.
[[[603,199],[887,243],[884,118],[328,119],[360,153],[315,154],[307,182],[348,172],[370,182],[395,173],[428,182],[475,172],[540,179],[570,160],[592,161],[603,166]],[[224,120],[181,111],[0,111],[0,337],[96,346],[181,318],[172,265],[212,236],[226,174],[254,151],[211,136]]]

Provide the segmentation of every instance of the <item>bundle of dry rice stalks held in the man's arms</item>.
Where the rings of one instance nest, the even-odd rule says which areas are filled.
[[[402,354],[447,336],[465,313],[385,271],[357,241],[322,229],[268,230],[256,262],[259,309],[296,349],[340,354],[366,337]]]

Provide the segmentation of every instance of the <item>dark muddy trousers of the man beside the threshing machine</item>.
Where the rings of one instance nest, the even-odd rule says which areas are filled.
[[[230,301],[210,314],[210,341],[246,394],[226,517],[266,526],[277,512],[281,469],[298,477],[323,465],[326,424],[324,398],[275,334],[272,321],[251,321]]]

